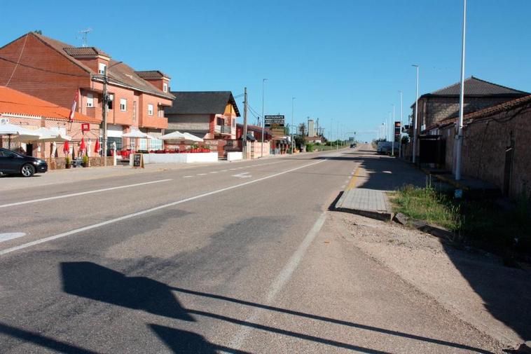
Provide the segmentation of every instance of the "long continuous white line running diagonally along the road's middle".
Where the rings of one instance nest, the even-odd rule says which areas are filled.
[[[263,180],[270,179],[270,178],[273,178],[273,177],[277,177],[277,176],[280,176],[280,175],[284,175],[284,174],[289,173],[289,172],[293,172],[293,171],[296,171],[296,170],[301,170],[301,168],[306,168],[306,167],[309,167],[311,165],[316,165],[317,163],[322,163],[323,161],[326,161],[326,160],[320,160],[320,161],[317,161],[315,163],[309,163],[308,165],[299,166],[298,168],[291,168],[291,170],[286,170],[286,171],[278,172],[278,173],[275,173],[273,175],[269,175],[269,176],[266,176],[266,177],[253,179],[252,181],[249,181],[249,182],[235,184],[234,186],[228,186],[226,188],[217,189],[216,191],[209,191],[207,193],[198,194],[197,196],[193,196],[193,197],[190,197],[190,198],[185,198],[185,199],[174,201],[172,203],[159,205],[158,207],[151,207],[151,208],[146,209],[146,210],[142,210],[142,211],[139,211],[139,212],[133,212],[132,214],[123,215],[121,217],[116,217],[115,219],[110,219],[110,220],[107,220],[106,222],[99,222],[97,224],[84,226],[84,227],[81,227],[79,229],[67,231],[67,232],[64,232],[64,233],[59,233],[59,234],[57,234],[55,236],[48,236],[46,238],[41,238],[40,240],[35,240],[35,241],[29,242],[29,243],[24,243],[22,245],[18,245],[18,246],[15,246],[15,247],[6,248],[6,250],[1,250],[0,251],[0,256],[3,255],[3,254],[8,254],[8,253],[17,251],[17,250],[22,250],[22,249],[27,248],[27,247],[32,247],[34,245],[39,245],[41,243],[46,243],[46,242],[51,241],[51,240],[57,240],[57,238],[63,238],[63,237],[74,235],[76,233],[80,233],[80,232],[83,232],[83,231],[96,229],[96,228],[98,228],[100,226],[114,224],[116,222],[121,222],[123,220],[131,219],[132,217],[138,217],[139,215],[144,215],[144,214],[148,214],[150,212],[155,212],[157,210],[165,209],[166,207],[172,207],[174,205],[178,205],[178,204],[181,204],[181,203],[186,203],[186,202],[189,202],[191,200],[200,199],[200,198],[204,198],[204,197],[207,197],[207,196],[212,196],[212,194],[217,194],[217,193],[221,193],[221,192],[224,192],[224,191],[230,191],[230,189],[235,189],[235,188],[238,188],[238,187],[241,187],[241,186],[247,186],[248,184],[253,184],[253,183],[256,183],[256,182],[261,182]]]

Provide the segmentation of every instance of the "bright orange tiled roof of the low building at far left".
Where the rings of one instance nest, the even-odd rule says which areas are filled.
[[[52,102],[21,93],[13,88],[0,86],[0,114],[21,114],[25,116],[41,116],[45,118],[68,121],[70,110],[57,106]],[[81,113],[74,113],[74,121],[85,123],[100,123],[97,118],[91,118]]]

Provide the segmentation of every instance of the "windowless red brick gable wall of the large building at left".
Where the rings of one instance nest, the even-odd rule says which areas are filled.
[[[0,56],[16,62],[25,38],[26,36],[23,36],[0,48]],[[20,64],[15,69],[14,63],[0,60],[0,85],[6,86],[15,70],[8,87],[67,108],[71,107],[74,94],[79,87],[90,87],[88,72],[46,46],[32,34],[27,35]],[[41,70],[31,67],[38,67]]]

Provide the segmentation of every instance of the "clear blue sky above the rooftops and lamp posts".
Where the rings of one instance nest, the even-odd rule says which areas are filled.
[[[391,104],[404,120],[420,93],[460,79],[462,0],[5,1],[0,45],[35,29],[97,46],[135,69],[160,69],[172,90],[249,91],[249,103],[291,121],[333,120],[376,137]],[[466,76],[531,91],[529,0],[469,0]],[[242,99],[237,99],[243,111]],[[254,117],[250,116],[251,122]]]

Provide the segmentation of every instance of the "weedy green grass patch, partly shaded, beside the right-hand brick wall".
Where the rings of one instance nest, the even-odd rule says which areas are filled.
[[[443,226],[491,252],[514,250],[531,255],[531,202],[519,200],[511,210],[495,200],[455,199],[432,186],[404,186],[390,198],[394,211]]]

